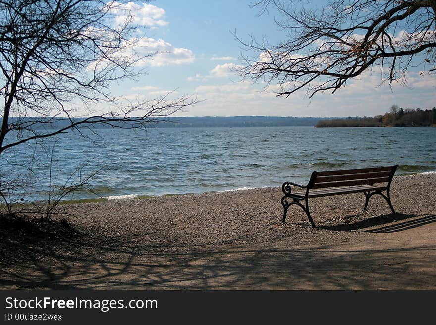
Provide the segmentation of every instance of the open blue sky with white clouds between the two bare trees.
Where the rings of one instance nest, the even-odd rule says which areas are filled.
[[[157,0],[138,4],[136,22],[142,29],[144,53],[159,54],[144,61],[147,71],[137,81],[113,89],[127,97],[155,98],[175,90],[176,95],[193,94],[204,100],[177,116],[373,116],[392,105],[431,108],[436,105],[436,78],[408,72],[407,87],[380,85],[380,76],[364,74],[334,94],[308,99],[304,91],[289,98],[263,92],[261,85],[240,81],[229,68],[242,64],[241,49],[232,32],[242,39],[250,34],[266,36],[274,43],[285,36],[274,23],[274,12],[259,17],[247,0]],[[320,2],[320,1],[317,1]]]

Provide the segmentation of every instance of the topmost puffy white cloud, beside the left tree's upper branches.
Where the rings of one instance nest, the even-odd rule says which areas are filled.
[[[123,24],[129,19],[132,19],[132,23],[135,25],[148,27],[159,27],[168,24],[167,21],[163,20],[165,10],[153,4],[119,3],[114,1],[112,5],[113,9],[111,12],[115,14],[115,22],[117,24]]]

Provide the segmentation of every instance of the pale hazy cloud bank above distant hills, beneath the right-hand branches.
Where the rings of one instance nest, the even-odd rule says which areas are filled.
[[[205,101],[180,115],[346,117],[384,114],[394,104],[403,108],[433,107],[436,76],[421,76],[419,72],[414,72],[406,78],[409,87],[394,83],[391,89],[389,85],[380,85],[380,74],[367,72],[334,94],[318,93],[312,99],[305,97],[304,91],[296,92],[289,98],[275,97],[276,93],[271,91],[277,85],[268,87],[267,92],[261,92],[261,85],[249,82],[201,85],[195,89],[195,93],[198,99]]]

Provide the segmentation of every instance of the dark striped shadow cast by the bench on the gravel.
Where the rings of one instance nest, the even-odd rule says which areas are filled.
[[[419,215],[416,214],[396,213],[375,216],[365,220],[359,220],[351,223],[343,223],[339,225],[319,225],[317,226],[317,228],[336,231],[394,233],[436,222],[436,215],[428,215],[416,218],[418,216]],[[381,227],[374,228],[376,226]]]

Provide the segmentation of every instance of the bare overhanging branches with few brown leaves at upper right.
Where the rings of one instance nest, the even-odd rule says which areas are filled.
[[[320,7],[322,5],[322,7]],[[247,51],[243,78],[278,85],[277,96],[303,89],[334,93],[366,71],[382,82],[406,82],[405,72],[420,66],[435,73],[436,0],[261,0],[263,14],[279,12],[276,24],[286,40],[243,41]]]

